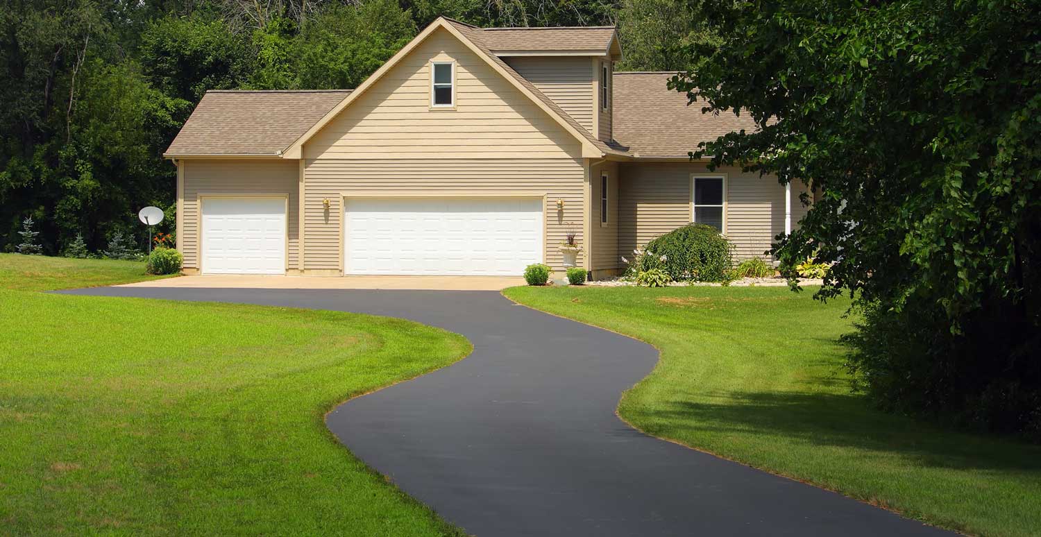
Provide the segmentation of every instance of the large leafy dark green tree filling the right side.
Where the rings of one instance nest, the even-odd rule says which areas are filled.
[[[786,263],[834,263],[883,405],[1041,436],[1041,8],[1022,0],[716,0],[676,80],[759,129],[700,148],[815,202]],[[808,200],[805,200],[808,201]]]

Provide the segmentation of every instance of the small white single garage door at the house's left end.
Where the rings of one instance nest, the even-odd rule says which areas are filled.
[[[285,274],[285,198],[205,198],[203,274]]]

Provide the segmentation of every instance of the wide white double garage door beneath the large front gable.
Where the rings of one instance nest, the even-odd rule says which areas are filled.
[[[344,204],[348,275],[520,276],[542,261],[541,198]]]

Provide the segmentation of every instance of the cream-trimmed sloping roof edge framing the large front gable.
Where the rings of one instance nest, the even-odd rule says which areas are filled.
[[[588,131],[582,128],[570,116],[563,111],[556,103],[554,103],[550,98],[545,97],[534,84],[526,80],[512,68],[506,65],[505,61],[500,59],[487,47],[480,43],[479,35],[475,32],[480,31],[478,28],[463,24],[457,21],[452,21],[443,17],[439,17],[429,26],[424,28],[418,35],[416,35],[408,45],[403,49],[398,51],[389,60],[383,63],[380,69],[376,70],[369,78],[365,79],[353,93],[351,93],[347,98],[342,99],[339,103],[332,107],[329,111],[325,113],[318,122],[315,122],[306,132],[300,135],[295,142],[289,145],[284,152],[286,158],[301,158],[303,145],[311,138],[318,131],[322,130],[330,121],[332,121],[340,111],[344,110],[348,105],[350,105],[354,100],[358,99],[369,87],[373,86],[377,81],[379,81],[383,75],[390,71],[396,65],[398,65],[404,57],[406,57],[416,46],[423,43],[431,33],[433,33],[438,28],[445,28],[450,33],[456,36],[460,42],[466,45],[475,54],[484,59],[493,70],[498,71],[504,78],[512,82],[514,86],[520,91],[522,94],[526,95],[531,99],[536,105],[542,108],[552,119],[556,120],[557,123],[561,125],[567,132],[574,135],[579,142],[582,143],[582,154],[586,157],[600,157],[606,153],[625,154],[618,149],[611,148],[607,144],[604,144],[600,139],[593,137]]]

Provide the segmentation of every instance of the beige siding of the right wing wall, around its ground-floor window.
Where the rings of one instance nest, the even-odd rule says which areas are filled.
[[[690,175],[709,174],[703,163],[632,162],[620,167],[618,248],[631,252],[651,239],[690,223]],[[727,180],[727,236],[736,259],[764,257],[772,238],[784,231],[784,186],[771,177],[723,168]],[[802,185],[792,185],[792,228],[806,214],[798,202]],[[797,186],[797,187],[796,187]],[[595,254],[594,254],[595,255]]]

